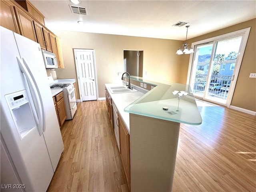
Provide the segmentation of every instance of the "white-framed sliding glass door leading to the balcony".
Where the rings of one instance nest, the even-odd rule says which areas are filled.
[[[194,45],[189,82],[194,96],[230,105],[245,40],[244,34],[238,33]]]

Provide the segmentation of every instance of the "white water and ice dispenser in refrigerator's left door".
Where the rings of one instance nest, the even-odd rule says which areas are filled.
[[[22,140],[33,128],[36,122],[31,109],[26,90],[5,95],[12,119]]]

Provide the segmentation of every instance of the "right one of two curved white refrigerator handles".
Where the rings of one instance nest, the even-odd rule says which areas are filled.
[[[22,58],[22,60],[23,60],[23,63],[24,63],[24,66],[26,66],[26,69],[27,69],[27,71],[28,71],[28,74],[29,74],[29,76],[31,77],[31,80],[32,80],[32,83],[34,84],[34,87],[36,88],[36,89],[34,89],[34,92],[35,92],[35,94],[36,94],[36,102],[38,103],[38,106],[39,106],[39,116],[40,116],[40,121],[41,121],[41,123],[40,123],[40,126],[41,126],[41,128],[40,128],[40,130],[41,130],[41,132],[43,131],[43,132],[45,132],[45,130],[46,130],[46,122],[45,122],[45,111],[44,111],[44,104],[43,104],[43,100],[42,100],[42,96],[41,96],[41,94],[40,94],[40,91],[39,91],[39,88],[38,88],[38,85],[37,85],[37,83],[36,83],[36,80],[35,80],[35,78],[34,78],[34,75],[32,74],[32,72],[31,72],[31,70],[30,70],[30,68],[28,67],[28,62],[26,61],[26,58]]]

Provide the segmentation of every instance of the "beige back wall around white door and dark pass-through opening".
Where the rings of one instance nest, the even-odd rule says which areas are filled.
[[[105,97],[105,83],[120,81],[121,77],[118,76],[118,72],[124,71],[124,50],[144,51],[144,78],[180,81],[180,57],[175,52],[182,41],[85,32],[53,32],[60,38],[65,67],[56,69],[58,79],[76,78],[74,48],[95,50],[98,96],[100,98]],[[148,72],[147,76],[145,76],[146,72]]]

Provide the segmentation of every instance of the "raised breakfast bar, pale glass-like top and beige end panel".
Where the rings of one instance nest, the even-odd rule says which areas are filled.
[[[202,123],[192,90],[172,82],[131,80],[157,86],[124,108],[129,113],[130,190],[171,191],[180,123]],[[178,100],[177,91],[187,94]]]

